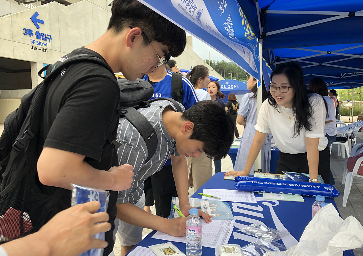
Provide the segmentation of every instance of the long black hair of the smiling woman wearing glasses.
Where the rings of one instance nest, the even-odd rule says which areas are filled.
[[[310,118],[313,117],[313,108],[309,103],[309,94],[306,89],[302,68],[298,63],[287,62],[277,65],[271,73],[271,80],[274,75],[285,75],[290,85],[295,90],[293,101],[293,113],[295,116],[294,135],[300,136],[300,131],[305,128],[311,131],[313,125]],[[278,111],[277,103],[272,96],[269,96],[269,104]]]

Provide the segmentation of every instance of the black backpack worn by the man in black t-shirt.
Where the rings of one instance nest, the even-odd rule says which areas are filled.
[[[58,188],[53,195],[44,194],[37,177],[37,137],[49,82],[76,62],[95,62],[113,74],[107,63],[93,55],[79,54],[62,60],[38,72],[42,77],[46,70],[44,80],[21,98],[19,108],[5,118],[0,137],[0,243],[39,230],[67,191]],[[111,135],[108,138],[114,140]]]

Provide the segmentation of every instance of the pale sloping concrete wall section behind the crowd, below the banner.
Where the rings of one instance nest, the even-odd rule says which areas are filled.
[[[185,47],[183,53],[179,57],[176,57],[174,59],[178,64],[179,68],[190,70],[191,67],[194,67],[196,65],[204,65],[210,70],[209,75],[215,76],[219,80],[224,80],[223,76],[219,75],[217,71],[213,70],[212,67],[210,67],[202,58],[199,57],[199,55],[197,55],[193,51],[191,36],[187,37],[187,46]]]

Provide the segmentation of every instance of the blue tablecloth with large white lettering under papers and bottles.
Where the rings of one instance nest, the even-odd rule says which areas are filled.
[[[224,173],[216,173],[209,179],[199,190],[197,190],[191,197],[201,198],[198,193],[203,193],[204,188],[209,189],[235,189],[233,180],[223,180]],[[257,240],[253,236],[248,236],[240,231],[240,228],[250,225],[252,223],[261,223],[271,228],[281,229],[285,227],[293,237],[288,236],[287,239],[277,241],[278,243],[285,244],[286,247],[291,247],[299,241],[302,232],[306,225],[311,220],[311,206],[315,202],[315,197],[304,197],[305,202],[291,202],[291,201],[277,201],[277,200],[264,200],[261,194],[255,193],[257,203],[239,203],[227,202],[232,209],[234,217],[233,233],[228,241],[228,244],[240,244],[241,247]],[[326,198],[325,202],[333,203],[333,198]],[[167,243],[169,241],[154,239],[152,236],[155,230],[148,234],[138,245],[149,247],[154,244]],[[183,253],[185,253],[185,243],[172,242]],[[204,247],[202,256],[214,256],[215,249]],[[354,256],[352,250],[344,251],[344,256]]]

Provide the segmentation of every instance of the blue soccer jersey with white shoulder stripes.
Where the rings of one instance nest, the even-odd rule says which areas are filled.
[[[161,80],[158,83],[153,84],[152,86],[154,87],[154,94],[152,95],[151,99],[154,98],[172,98],[171,96],[171,76],[172,76],[172,72],[170,70],[168,70],[168,73],[166,74],[166,76],[164,77],[163,80]],[[148,81],[148,75],[144,76],[143,79]],[[190,108],[191,106],[193,106],[196,102],[199,101],[194,87],[193,85],[190,83],[190,81],[183,77],[183,106],[185,109]]]

